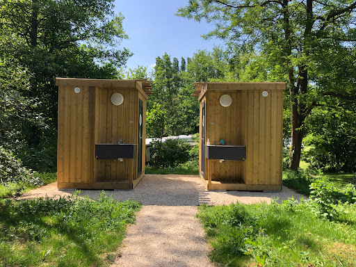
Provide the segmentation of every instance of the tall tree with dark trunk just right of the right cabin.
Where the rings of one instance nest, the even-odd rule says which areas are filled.
[[[177,15],[214,23],[216,29],[206,38],[225,40],[232,58],[257,56],[267,73],[265,81],[288,82],[290,168],[298,170],[305,123],[313,108],[324,104],[325,96],[356,99],[350,79],[336,85],[332,77],[318,75],[325,61],[332,65],[339,60],[336,65],[342,65],[339,52],[355,56],[355,11],[356,2],[347,0],[190,0]],[[340,76],[342,70],[333,72]],[[351,76],[355,81],[355,73]],[[331,86],[326,88],[325,80]]]

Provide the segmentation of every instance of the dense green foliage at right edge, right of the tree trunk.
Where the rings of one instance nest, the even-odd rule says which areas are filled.
[[[315,108],[309,118],[305,145],[307,161],[314,168],[350,172],[356,166],[356,105]]]

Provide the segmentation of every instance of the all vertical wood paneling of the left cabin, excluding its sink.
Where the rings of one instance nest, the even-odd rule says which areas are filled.
[[[58,89],[58,186],[99,181],[127,181],[137,177],[137,159],[124,161],[96,160],[95,144],[138,143],[138,90],[59,86]],[[111,104],[111,95],[120,92],[124,102]],[[143,100],[143,171],[145,170],[146,99]],[[132,181],[131,181],[132,185]],[[63,186],[62,186],[63,187]],[[95,188],[95,186],[92,186]]]

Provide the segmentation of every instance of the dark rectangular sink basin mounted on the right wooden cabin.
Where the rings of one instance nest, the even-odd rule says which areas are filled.
[[[244,161],[246,159],[246,147],[242,145],[206,145],[205,157],[207,159]]]

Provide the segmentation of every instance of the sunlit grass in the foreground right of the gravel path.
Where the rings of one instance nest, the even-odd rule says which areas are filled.
[[[218,266],[356,266],[356,207],[330,221],[312,202],[199,207]]]

